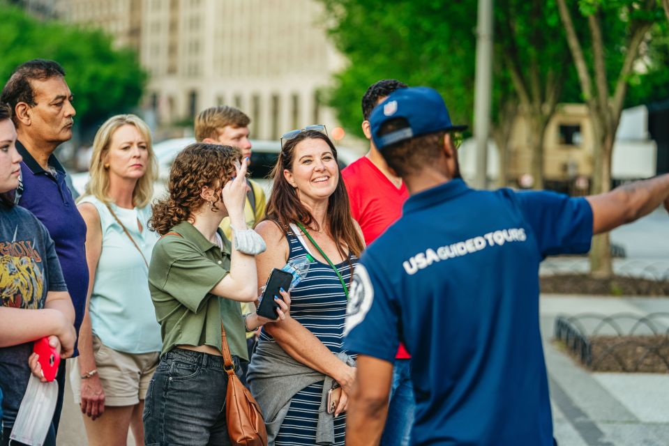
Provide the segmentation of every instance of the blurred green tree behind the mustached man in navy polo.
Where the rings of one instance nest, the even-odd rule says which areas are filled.
[[[0,82],[31,59],[52,59],[65,68],[80,128],[127,112],[142,98],[146,72],[130,49],[115,49],[102,31],[42,21],[0,1]]]

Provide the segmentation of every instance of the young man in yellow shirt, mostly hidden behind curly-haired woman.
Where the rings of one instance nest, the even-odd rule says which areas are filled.
[[[248,125],[251,120],[244,112],[227,105],[209,107],[195,118],[195,139],[198,142],[221,144],[239,148],[243,157],[251,157],[251,141],[248,139]],[[265,193],[255,181],[248,179],[248,192],[244,215],[246,224],[253,228],[265,214]],[[220,224],[225,236],[230,239],[230,218],[225,217]]]

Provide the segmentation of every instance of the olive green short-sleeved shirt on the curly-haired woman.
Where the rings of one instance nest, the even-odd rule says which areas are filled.
[[[209,293],[230,272],[230,242],[223,252],[188,222],[181,222],[153,247],[149,290],[163,336],[164,355],[174,346],[208,345],[220,351],[220,322],[230,353],[248,360],[246,330],[239,302]]]

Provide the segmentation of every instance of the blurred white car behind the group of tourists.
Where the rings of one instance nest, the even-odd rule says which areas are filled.
[[[176,155],[188,146],[188,144],[193,144],[194,142],[195,139],[193,138],[175,138],[153,144],[153,152],[156,153],[156,158],[158,159],[158,180],[153,185],[154,196],[158,197],[165,192],[167,180],[170,178],[170,168]],[[252,140],[251,144],[253,148],[251,164],[249,166],[250,178],[260,183],[265,192],[269,194],[271,190],[269,174],[274,164],[276,164],[279,152],[281,151],[281,145],[279,141],[262,140]],[[345,147],[338,147],[337,155],[339,165],[342,169],[361,157],[361,153]],[[86,187],[88,180],[88,172],[80,172],[79,174],[72,175],[72,183],[80,194],[84,192],[84,187]]]

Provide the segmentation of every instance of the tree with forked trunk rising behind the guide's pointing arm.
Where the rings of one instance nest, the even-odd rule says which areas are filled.
[[[592,122],[592,192],[607,192],[613,143],[630,87],[639,87],[636,100],[640,100],[656,93],[643,86],[643,77],[648,86],[667,79],[666,65],[658,63],[666,61],[665,14],[659,0],[556,1]],[[658,47],[664,49],[663,58],[654,54]],[[612,275],[608,233],[594,238],[590,263],[592,274]]]

